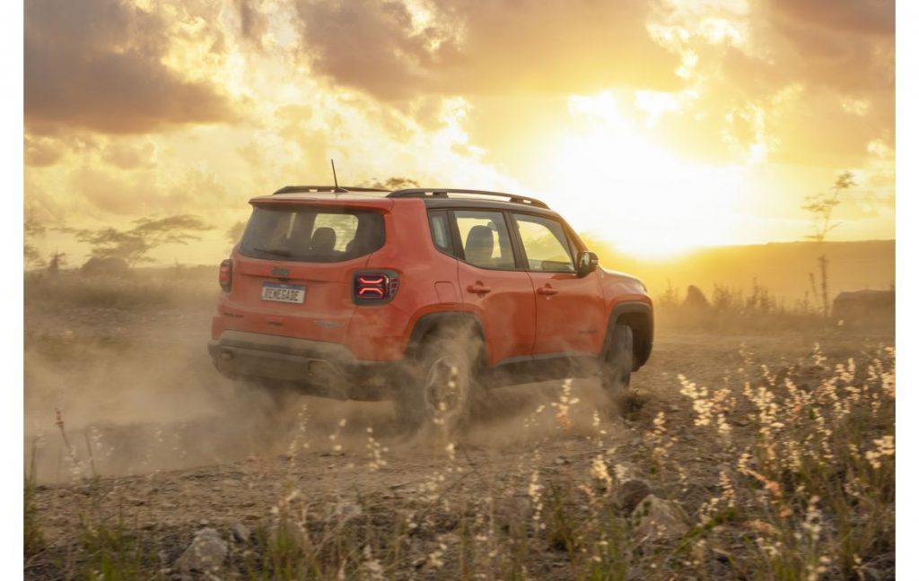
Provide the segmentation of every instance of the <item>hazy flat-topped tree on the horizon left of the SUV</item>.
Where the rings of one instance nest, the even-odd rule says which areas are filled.
[[[193,232],[210,230],[212,227],[201,218],[190,214],[179,214],[168,218],[141,218],[134,221],[134,228],[119,230],[104,228],[97,230],[70,230],[76,239],[93,247],[92,255],[97,258],[120,258],[134,266],[150,263],[148,256],[154,248],[164,244],[187,244],[199,240]]]

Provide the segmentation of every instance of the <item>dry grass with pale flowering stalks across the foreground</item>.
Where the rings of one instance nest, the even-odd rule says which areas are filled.
[[[538,438],[501,477],[454,443],[437,440],[425,445],[437,449],[439,462],[401,501],[373,494],[330,503],[291,476],[275,507],[255,525],[253,540],[230,542],[226,564],[213,574],[892,578],[893,350],[879,347],[831,362],[815,347],[781,369],[767,368],[751,352],[742,351],[740,360],[717,388],[680,377],[692,425],[678,429],[659,412],[641,444],[625,453],[598,415],[588,427],[573,427],[571,414],[584,403],[562,389],[552,405],[537,408],[520,426],[532,430],[538,419],[552,418],[556,432]],[[304,410],[298,421],[311,419]],[[299,440],[304,433],[294,431],[290,455],[306,443]],[[558,437],[585,438],[593,452],[573,469],[547,470],[544,445]],[[720,459],[697,466],[701,476],[688,458],[698,454],[698,441],[712,442],[707,453]],[[372,431],[366,451],[365,470],[386,465],[388,450]],[[689,514],[686,530],[662,538],[638,534],[619,494],[630,477],[629,461],[655,495],[681,501]],[[165,551],[171,563],[183,546],[175,534],[130,529],[93,508],[101,493],[92,481],[81,486],[88,497],[76,541],[46,557],[44,566],[63,576],[167,578],[164,564],[151,555]],[[462,486],[478,493],[457,494]],[[184,538],[187,544],[187,533]]]

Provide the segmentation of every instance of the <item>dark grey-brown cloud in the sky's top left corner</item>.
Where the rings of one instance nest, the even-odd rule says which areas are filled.
[[[35,133],[137,133],[233,117],[210,84],[166,68],[165,23],[118,0],[30,0],[25,115]]]

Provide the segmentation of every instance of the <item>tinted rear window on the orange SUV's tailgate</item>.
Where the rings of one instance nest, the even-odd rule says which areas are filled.
[[[239,250],[244,256],[339,263],[380,249],[383,217],[373,210],[255,207]]]

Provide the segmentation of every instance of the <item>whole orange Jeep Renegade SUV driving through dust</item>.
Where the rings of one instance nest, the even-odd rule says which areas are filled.
[[[298,185],[250,204],[211,323],[227,376],[449,429],[477,390],[599,374],[615,394],[651,354],[645,286],[539,200]]]

